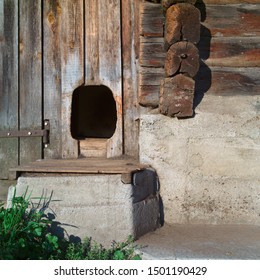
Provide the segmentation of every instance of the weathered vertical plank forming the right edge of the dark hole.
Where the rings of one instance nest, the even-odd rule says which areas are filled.
[[[107,145],[108,157],[123,153],[121,67],[120,0],[111,0],[99,6],[99,75],[101,83],[112,90],[117,108],[116,130]]]

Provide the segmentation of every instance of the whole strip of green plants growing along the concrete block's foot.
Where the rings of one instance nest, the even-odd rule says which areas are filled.
[[[86,238],[72,243],[50,233],[52,221],[45,215],[51,197],[43,196],[36,205],[27,192],[20,197],[14,194],[12,206],[0,205],[0,259],[37,260],[140,260],[134,240],[113,242],[110,248]]]

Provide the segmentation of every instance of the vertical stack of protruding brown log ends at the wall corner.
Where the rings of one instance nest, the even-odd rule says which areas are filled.
[[[184,2],[184,3],[182,3]],[[200,12],[194,0],[162,0],[165,9],[165,78],[159,112],[169,117],[193,116],[194,76],[200,66]]]

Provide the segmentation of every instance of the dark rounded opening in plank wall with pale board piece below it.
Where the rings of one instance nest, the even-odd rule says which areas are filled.
[[[107,86],[81,86],[74,90],[71,135],[79,141],[80,156],[106,157],[107,142],[116,125],[116,102]]]

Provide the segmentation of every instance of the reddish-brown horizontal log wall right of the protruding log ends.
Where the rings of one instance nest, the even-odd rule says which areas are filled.
[[[219,96],[259,94],[260,1],[209,2],[198,5],[203,15],[198,91]]]

